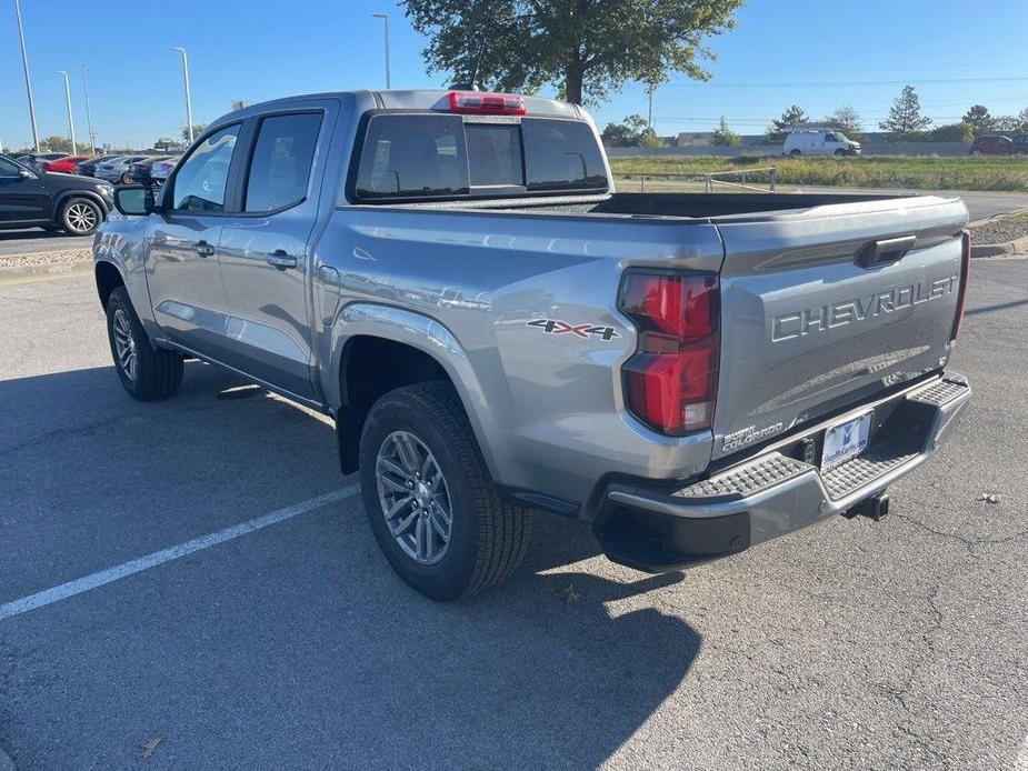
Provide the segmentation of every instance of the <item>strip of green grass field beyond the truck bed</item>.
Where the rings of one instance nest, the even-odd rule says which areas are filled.
[[[715,158],[653,156],[611,158],[616,178],[640,174],[688,174],[776,167],[782,186],[824,184],[844,188],[917,188],[920,190],[1008,190],[1028,192],[1028,158]],[[749,182],[750,176],[747,176]],[[753,182],[766,177],[752,174]]]

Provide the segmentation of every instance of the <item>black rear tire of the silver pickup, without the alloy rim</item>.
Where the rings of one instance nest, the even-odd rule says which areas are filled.
[[[400,547],[380,500],[379,451],[398,431],[420,440],[445,478],[450,540],[433,564],[420,563]],[[360,485],[371,531],[389,564],[432,600],[460,600],[483,591],[510,575],[525,555],[530,513],[497,494],[468,417],[449,383],[399,388],[375,403],[360,438]]]

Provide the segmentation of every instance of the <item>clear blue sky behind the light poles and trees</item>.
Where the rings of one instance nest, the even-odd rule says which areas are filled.
[[[186,118],[172,46],[189,50],[198,122],[227,112],[233,99],[383,87],[381,22],[372,12],[390,14],[395,87],[447,82],[426,72],[423,39],[390,0],[21,1],[41,137],[68,132],[56,70],[72,76],[76,130],[86,136],[83,62],[98,141],[146,147],[178,134]],[[937,123],[975,102],[994,114],[1028,107],[1024,0],[750,0],[737,19],[735,30],[710,40],[712,81],[673,74],[658,90],[660,133],[710,130],[721,114],[736,131],[759,133],[792,103],[812,118],[851,104],[875,129],[906,82]],[[0,3],[0,141],[22,147],[31,130],[10,0]],[[602,126],[646,107],[643,90],[628,84],[592,112]]]

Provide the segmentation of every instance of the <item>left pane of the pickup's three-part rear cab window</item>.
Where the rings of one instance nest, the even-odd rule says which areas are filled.
[[[368,123],[358,198],[430,198],[470,192],[460,116],[376,116]]]

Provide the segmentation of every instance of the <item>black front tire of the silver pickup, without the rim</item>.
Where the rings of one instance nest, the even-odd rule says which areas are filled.
[[[126,333],[131,339],[130,347],[134,353],[134,373],[127,370],[119,357],[119,344],[123,343],[116,340],[116,336]],[[132,398],[154,401],[167,399],[178,390],[182,382],[181,354],[150,343],[124,287],[118,287],[107,301],[107,338],[114,371]]]

